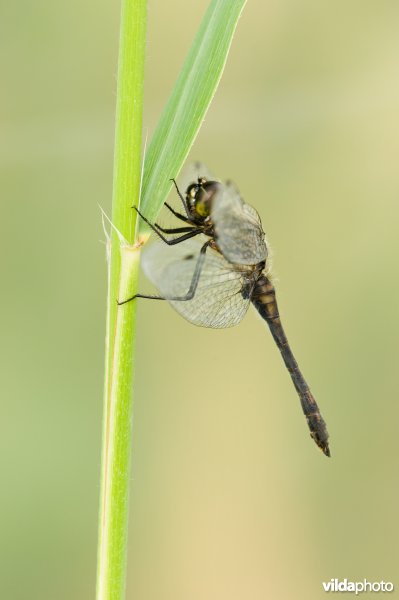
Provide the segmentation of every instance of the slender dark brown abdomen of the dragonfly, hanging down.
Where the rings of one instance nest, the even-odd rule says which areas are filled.
[[[257,280],[251,300],[258,313],[269,325],[274,341],[281,352],[284,363],[291,375],[292,382],[298,392],[302,410],[310,429],[310,435],[319,448],[323,450],[324,454],[330,456],[326,424],[289,346],[280,320],[276,291],[266,275],[262,274]]]

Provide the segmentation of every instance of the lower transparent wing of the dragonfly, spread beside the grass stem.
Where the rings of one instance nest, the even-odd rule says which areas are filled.
[[[172,300],[187,294],[206,241],[201,235],[176,246],[155,243],[143,252],[143,269],[160,294],[187,321],[201,327],[232,327],[243,319],[250,303],[241,293],[245,278],[209,247],[194,297]]]

